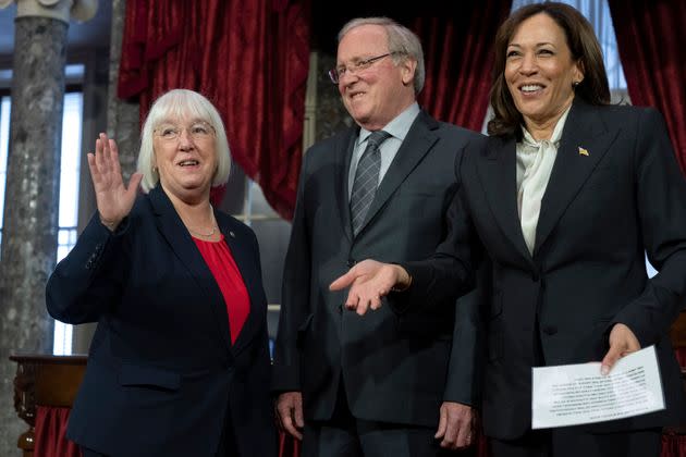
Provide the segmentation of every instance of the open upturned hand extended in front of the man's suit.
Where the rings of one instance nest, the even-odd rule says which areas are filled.
[[[367,259],[331,283],[329,289],[341,291],[351,286],[345,307],[364,316],[370,308],[381,308],[381,297],[387,296],[396,284],[408,282],[409,274],[402,267]]]

